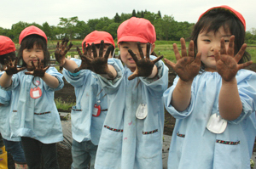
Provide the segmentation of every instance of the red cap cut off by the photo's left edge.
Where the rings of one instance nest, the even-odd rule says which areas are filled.
[[[9,54],[15,51],[15,43],[9,37],[0,36],[0,55]]]

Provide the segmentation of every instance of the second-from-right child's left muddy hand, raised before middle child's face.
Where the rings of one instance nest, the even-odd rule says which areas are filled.
[[[96,74],[107,74],[109,78],[114,78],[112,72],[108,70],[108,56],[110,51],[113,49],[113,46],[110,45],[107,49],[106,54],[103,56],[103,49],[104,49],[104,41],[101,41],[99,56],[96,53],[96,47],[94,43],[91,44],[93,59],[91,60],[91,66],[93,67],[93,71]]]

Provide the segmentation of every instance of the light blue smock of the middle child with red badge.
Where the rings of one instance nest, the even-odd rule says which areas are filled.
[[[81,65],[80,59],[72,60]],[[63,75],[67,82],[73,85],[76,95],[76,105],[71,112],[73,139],[79,143],[91,140],[97,145],[108,112],[108,96],[98,84],[96,74],[90,70],[71,73],[64,69]],[[92,116],[95,104],[101,106],[99,116]]]

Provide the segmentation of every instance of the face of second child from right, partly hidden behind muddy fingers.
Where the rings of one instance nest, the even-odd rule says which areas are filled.
[[[147,44],[146,43],[141,43],[142,49],[143,49],[143,54],[144,56],[147,54]],[[137,58],[140,59],[140,54],[139,50],[137,48],[137,42],[120,42],[118,44],[119,51],[120,51],[120,57],[123,63],[133,72],[136,70],[137,65],[135,61],[132,59],[131,54],[129,54],[128,49],[131,49],[134,54],[137,55]],[[154,50],[154,43],[151,45],[151,51]]]

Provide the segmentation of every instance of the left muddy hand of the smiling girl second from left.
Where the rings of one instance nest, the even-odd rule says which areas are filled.
[[[10,57],[8,57],[8,60],[4,59],[4,63],[6,65],[6,68],[4,69],[4,71],[9,76],[14,75],[14,74],[18,73],[21,70],[26,69],[26,67],[17,68],[17,63],[18,63],[17,58],[15,58],[15,63],[13,63],[12,59]]]

